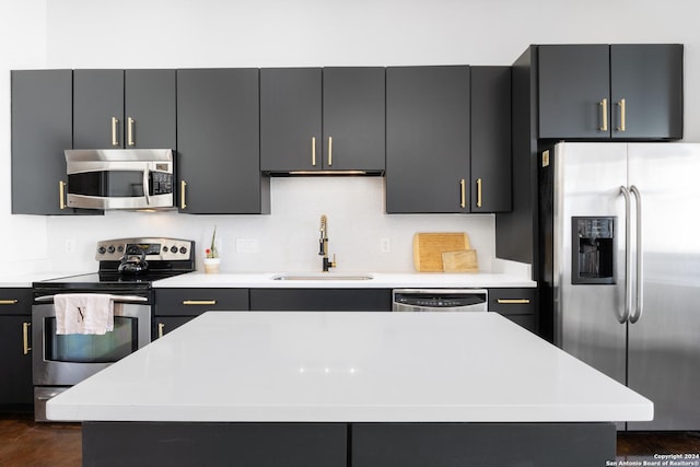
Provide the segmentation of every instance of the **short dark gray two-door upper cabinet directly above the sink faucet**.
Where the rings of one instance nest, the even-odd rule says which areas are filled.
[[[384,170],[384,68],[260,70],[260,168]]]

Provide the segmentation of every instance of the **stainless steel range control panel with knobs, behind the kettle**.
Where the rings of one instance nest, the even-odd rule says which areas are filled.
[[[97,242],[95,259],[98,261],[119,261],[128,250],[145,254],[147,260],[173,261],[192,259],[195,242],[182,238],[117,238]]]

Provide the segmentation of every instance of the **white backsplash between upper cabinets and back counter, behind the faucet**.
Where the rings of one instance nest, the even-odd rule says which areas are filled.
[[[336,255],[337,271],[413,271],[412,238],[417,232],[467,232],[477,249],[479,268],[491,269],[493,214],[386,214],[382,177],[272,178],[270,190],[269,215],[109,211],[97,217],[51,217],[51,267],[95,270],[94,249],[100,240],[170,236],[197,242],[197,268],[201,269],[203,250],[217,225],[224,271],[317,271],[322,268],[320,214],[326,214],[329,253]],[[389,253],[382,252],[385,238]]]

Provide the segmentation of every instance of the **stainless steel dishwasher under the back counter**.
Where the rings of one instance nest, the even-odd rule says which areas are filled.
[[[485,289],[395,289],[394,312],[487,312]]]

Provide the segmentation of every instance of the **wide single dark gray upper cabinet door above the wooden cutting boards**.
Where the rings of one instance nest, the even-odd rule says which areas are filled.
[[[386,69],[386,211],[469,212],[469,67]]]

